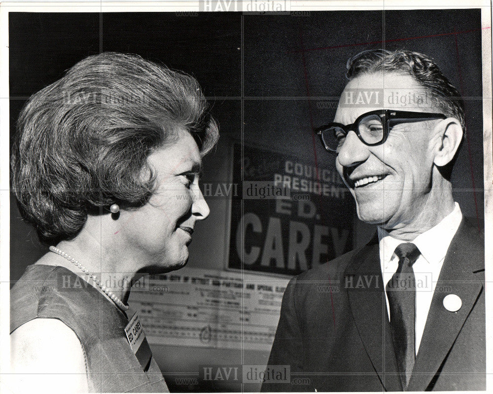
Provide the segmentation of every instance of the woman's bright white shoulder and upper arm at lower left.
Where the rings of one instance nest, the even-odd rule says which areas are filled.
[[[40,387],[87,392],[82,345],[64,322],[36,318],[22,324],[10,334],[10,352],[12,384],[25,389],[20,392]]]

